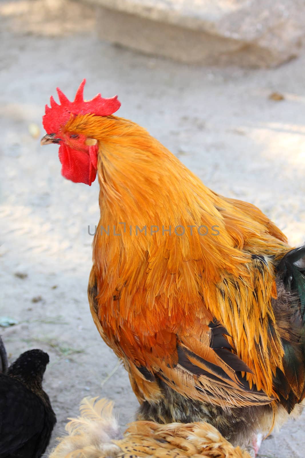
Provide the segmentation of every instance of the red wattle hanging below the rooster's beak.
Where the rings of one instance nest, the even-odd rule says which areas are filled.
[[[64,143],[59,147],[59,160],[62,164],[61,174],[74,183],[85,183],[91,186],[96,179],[96,166],[93,164],[93,151],[90,156],[87,152],[71,149]],[[92,159],[91,159],[92,157]],[[95,164],[97,163],[97,148]]]

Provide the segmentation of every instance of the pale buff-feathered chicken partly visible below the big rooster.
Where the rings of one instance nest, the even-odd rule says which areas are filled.
[[[135,421],[118,438],[118,425],[107,399],[84,398],[80,417],[65,427],[68,435],[49,458],[250,458],[233,447],[213,426],[204,422]]]

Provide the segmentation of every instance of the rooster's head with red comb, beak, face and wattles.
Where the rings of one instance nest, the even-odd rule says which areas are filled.
[[[85,101],[85,83],[85,79],[80,83],[73,102],[59,88],[60,104],[51,96],[51,108],[46,105],[43,116],[47,134],[41,139],[41,145],[58,143],[62,175],[75,183],[90,186],[96,178],[97,168],[96,123],[116,112],[121,104],[117,96],[102,98],[101,94]]]

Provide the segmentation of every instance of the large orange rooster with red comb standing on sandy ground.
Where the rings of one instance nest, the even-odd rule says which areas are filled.
[[[305,247],[114,116],[117,97],[84,101],[84,85],[73,102],[51,97],[41,144],[59,144],[65,178],[98,176],[96,327],[128,371],[139,420],[207,421],[246,446],[305,397]]]

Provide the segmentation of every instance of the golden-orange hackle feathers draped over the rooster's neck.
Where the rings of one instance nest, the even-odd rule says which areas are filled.
[[[126,284],[130,295],[135,294],[145,277],[141,287],[149,291],[147,301],[153,302],[161,292],[171,293],[172,277],[179,273],[188,300],[193,302],[199,294],[198,281],[205,285],[217,282],[223,272],[247,277],[245,263],[250,256],[241,249],[250,239],[262,239],[262,223],[254,214],[258,212],[255,207],[253,210],[247,204],[253,212],[247,215],[230,199],[210,191],[131,121],[109,116],[102,129],[89,132],[89,136],[99,142],[101,219],[93,259],[104,280],[101,295],[110,297]],[[125,233],[124,225],[119,223],[126,224]],[[185,229],[182,236],[174,233],[178,225]],[[113,226],[120,235],[113,233]],[[139,229],[136,235],[136,226],[146,226],[146,235]],[[159,231],[150,234],[151,226],[158,226]],[[188,226],[194,226],[193,235]],[[199,226],[206,226],[208,234],[199,235]],[[213,233],[213,226],[218,226],[219,235]],[[102,227],[109,227],[109,234],[101,233]],[[166,232],[170,227],[171,236]],[[274,244],[274,237],[266,234],[265,245],[272,241]],[[264,245],[264,239],[260,243]]]

